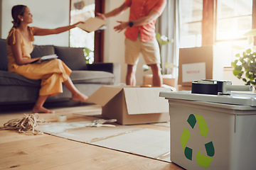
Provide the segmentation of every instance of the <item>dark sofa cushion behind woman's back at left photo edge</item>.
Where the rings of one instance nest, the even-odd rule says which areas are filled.
[[[8,70],[6,40],[0,39],[0,70]]]

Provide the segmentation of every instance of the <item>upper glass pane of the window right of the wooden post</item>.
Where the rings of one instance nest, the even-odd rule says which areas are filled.
[[[218,0],[216,41],[244,38],[252,29],[252,0]]]

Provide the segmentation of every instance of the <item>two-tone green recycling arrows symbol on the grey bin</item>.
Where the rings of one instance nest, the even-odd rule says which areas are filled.
[[[196,123],[198,123],[198,127],[200,130],[199,134],[202,135],[203,137],[207,136],[209,128],[207,127],[206,120],[203,118],[202,115],[191,114],[188,116],[187,122],[192,129],[195,127]],[[182,149],[185,154],[185,157],[192,161],[193,149],[186,147],[188,140],[191,140],[190,132],[187,129],[183,129],[183,132],[181,135]],[[213,160],[215,150],[213,147],[213,142],[206,143],[205,147],[206,147],[207,156],[204,154],[201,154],[199,150],[198,153],[196,154],[196,161],[198,163],[198,166],[203,166],[205,168],[208,168],[208,166],[210,166],[210,162]]]

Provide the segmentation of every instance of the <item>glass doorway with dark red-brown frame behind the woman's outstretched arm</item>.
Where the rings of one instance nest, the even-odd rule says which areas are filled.
[[[104,13],[105,1],[100,0],[70,0],[70,24],[86,21],[95,17],[95,13]],[[103,62],[104,31],[97,30],[87,33],[80,28],[70,30],[70,47],[83,47],[88,64]]]

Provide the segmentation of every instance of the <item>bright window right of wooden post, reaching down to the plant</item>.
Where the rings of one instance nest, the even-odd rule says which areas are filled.
[[[252,30],[252,0],[218,0],[215,45],[227,47],[230,55],[223,60],[224,67],[230,67],[235,54],[241,52],[235,47],[246,47],[243,35]]]

